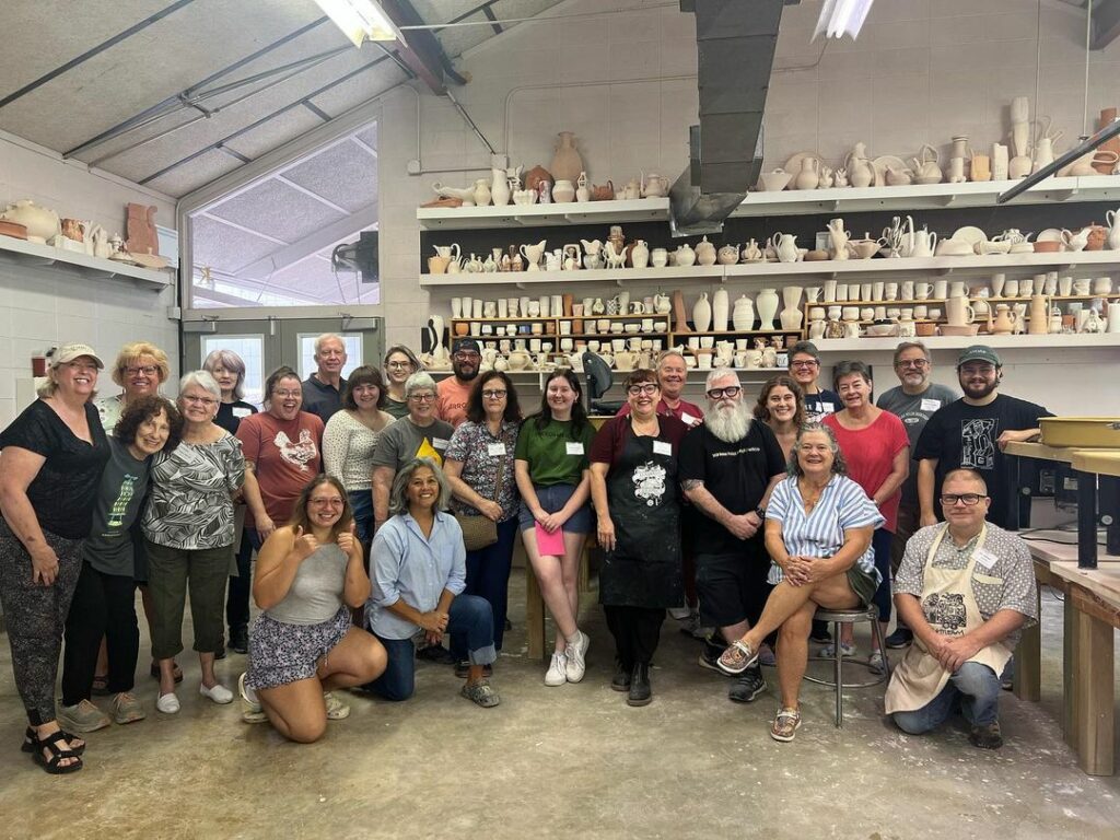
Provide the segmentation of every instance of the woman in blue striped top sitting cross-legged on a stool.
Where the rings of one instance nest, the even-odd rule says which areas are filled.
[[[790,457],[790,476],[771,494],[766,550],[774,590],[762,617],[719,657],[729,674],[758,659],[763,640],[778,631],[777,679],[782,706],[771,725],[774,740],[793,740],[801,726],[797,697],[809,662],[809,631],[816,607],[867,607],[879,585],[871,534],[884,522],[848,472],[832,430],[801,427]]]

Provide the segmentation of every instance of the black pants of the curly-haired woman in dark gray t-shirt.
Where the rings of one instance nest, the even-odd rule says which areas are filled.
[[[132,691],[140,652],[136,581],[131,576],[105,575],[83,562],[66,617],[63,706],[90,699],[102,636],[109,654],[109,691]]]

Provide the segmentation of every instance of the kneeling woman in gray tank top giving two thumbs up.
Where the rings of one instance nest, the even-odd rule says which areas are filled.
[[[262,720],[263,711],[286,738],[310,744],[323,737],[327,718],[349,713],[324,691],[361,685],[385,670],[381,643],[351,624],[349,608],[368,596],[346,491],[320,475],[256,559],[253,598],[264,612],[250,631],[249,672],[240,680],[246,721]]]

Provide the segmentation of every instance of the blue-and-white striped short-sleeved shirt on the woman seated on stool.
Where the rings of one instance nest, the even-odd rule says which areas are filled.
[[[834,475],[824,486],[821,498],[811,513],[805,514],[805,503],[797,489],[797,478],[782,479],[771,494],[766,519],[782,523],[782,541],[791,557],[832,557],[843,548],[843,532],[853,528],[879,528],[886,520],[879,508],[867,497],[864,488],[848,476]],[[867,547],[856,564],[875,578],[878,585],[883,577],[875,568],[875,551]],[[771,566],[769,584],[777,584],[784,577],[782,567]]]

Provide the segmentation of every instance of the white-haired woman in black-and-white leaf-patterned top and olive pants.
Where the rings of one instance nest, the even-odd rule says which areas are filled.
[[[188,586],[203,673],[199,693],[216,703],[233,700],[214,675],[214,656],[222,646],[225,579],[233,559],[233,496],[245,483],[245,458],[241,442],[214,423],[221,401],[222,389],[211,374],[186,374],[178,399],[183,440],[174,451],[157,455],[151,466],[151,498],[142,526],[155,606],[151,646],[159,663],[156,708],[167,715],[179,711],[172,660],[183,650]],[[254,515],[264,514],[259,493],[249,504]]]

